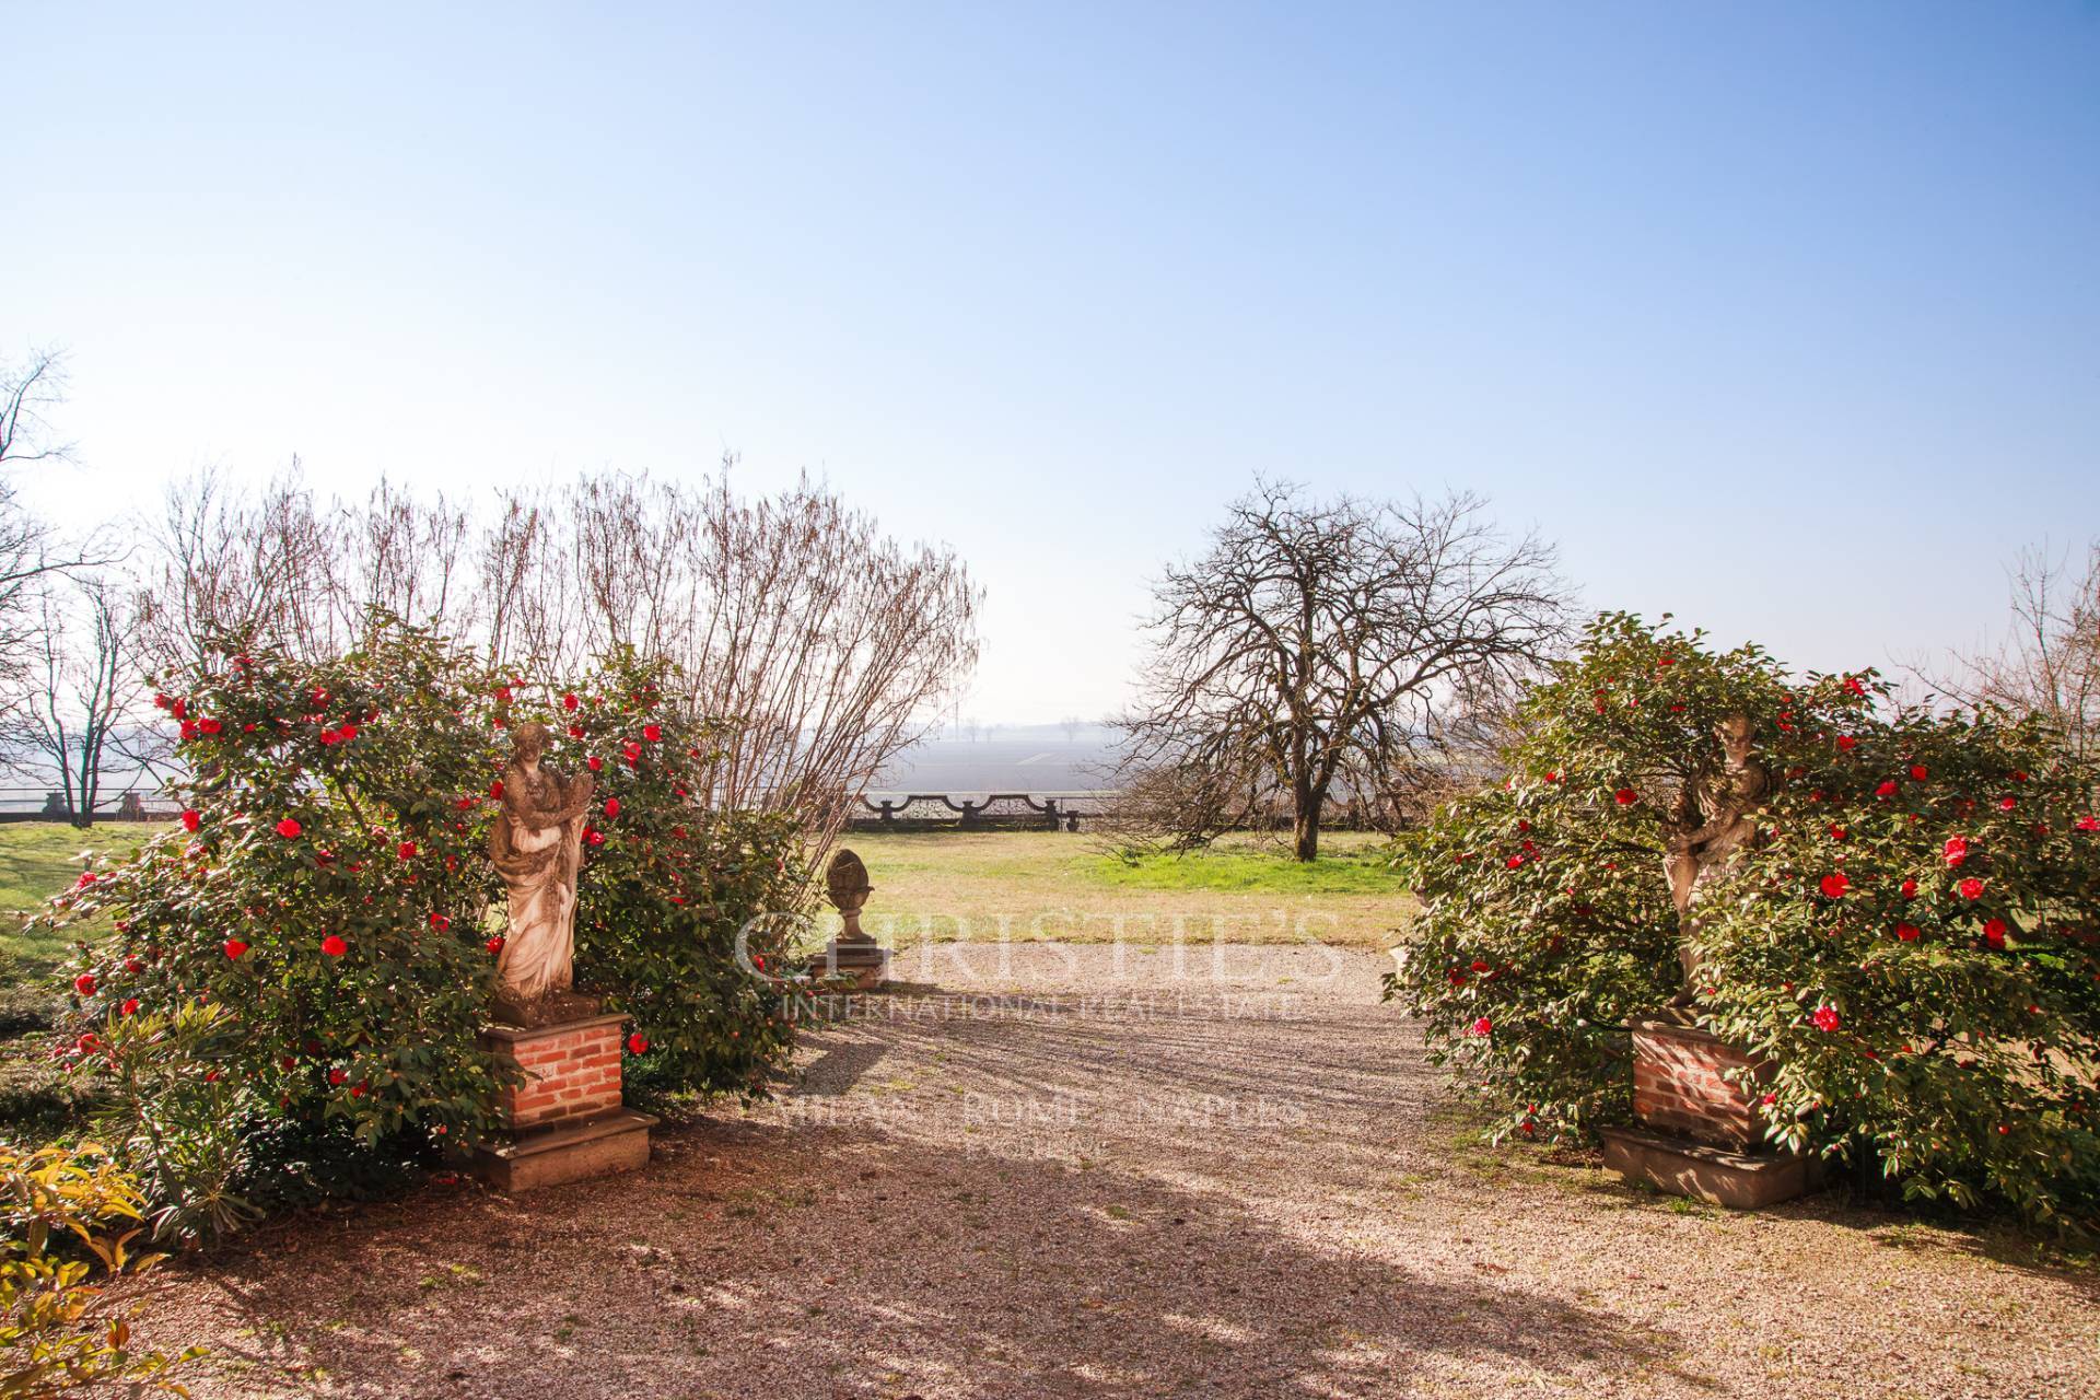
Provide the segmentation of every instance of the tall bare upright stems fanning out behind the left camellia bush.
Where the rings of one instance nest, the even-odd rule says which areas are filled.
[[[485,516],[388,485],[317,502],[296,466],[252,500],[202,476],[155,531],[149,651],[174,665],[250,632],[330,655],[382,609],[521,676],[615,646],[668,657],[680,701],[724,720],[710,798],[794,810],[821,854],[974,665],[979,590],[949,550],[901,546],[808,481],[743,497],[731,468],[697,489],[514,489]]]

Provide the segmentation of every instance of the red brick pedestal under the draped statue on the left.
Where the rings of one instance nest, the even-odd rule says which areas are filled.
[[[483,1031],[481,1045],[523,1081],[502,1091],[504,1131],[475,1148],[475,1171],[498,1190],[531,1190],[647,1165],[655,1119],[622,1106],[624,1031],[626,1016]]]

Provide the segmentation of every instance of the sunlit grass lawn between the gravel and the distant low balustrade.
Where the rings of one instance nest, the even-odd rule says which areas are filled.
[[[861,835],[876,886],[861,924],[884,942],[1342,942],[1390,947],[1413,909],[1384,842],[1338,833],[1312,865],[1226,837],[1136,867],[1086,833]]]

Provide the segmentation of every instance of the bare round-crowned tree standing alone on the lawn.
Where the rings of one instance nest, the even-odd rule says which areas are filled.
[[[1258,483],[1210,552],[1155,584],[1153,651],[1121,720],[1126,775],[1193,791],[1212,823],[1292,814],[1319,854],[1329,798],[1394,804],[1464,751],[1474,716],[1564,636],[1554,550],[1474,495],[1308,500]]]

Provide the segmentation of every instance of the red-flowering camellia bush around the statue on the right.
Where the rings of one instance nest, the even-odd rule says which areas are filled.
[[[1422,913],[1388,997],[1506,1129],[1625,1119],[1628,1020],[1684,989],[1665,854],[1735,716],[1770,787],[1699,890],[1688,991],[1772,1062],[1743,1085],[1768,1138],[1911,1196],[2100,1224],[2100,819],[2037,720],[1604,615],[1531,691],[1508,781],[1405,837]]]

